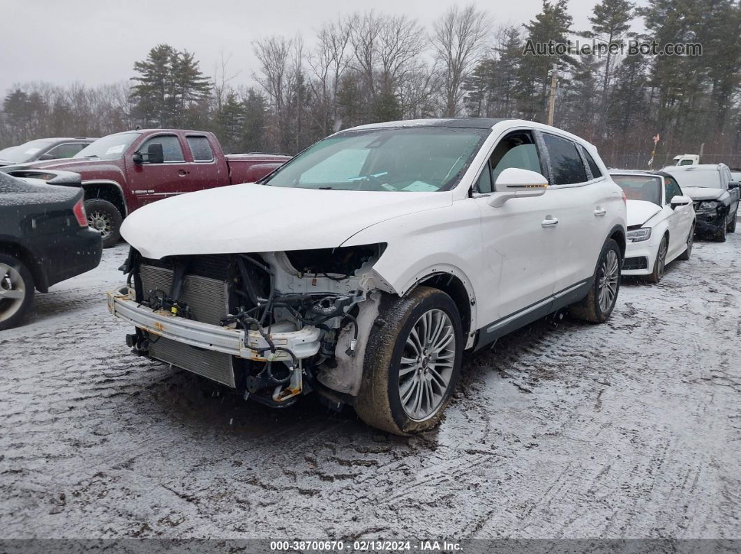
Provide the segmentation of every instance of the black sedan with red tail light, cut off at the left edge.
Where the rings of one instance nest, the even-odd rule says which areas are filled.
[[[87,227],[79,175],[19,179],[0,172],[0,331],[23,319],[35,289],[47,292],[95,268],[101,254],[100,233]]]

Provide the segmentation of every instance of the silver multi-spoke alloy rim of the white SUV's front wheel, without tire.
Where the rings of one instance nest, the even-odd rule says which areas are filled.
[[[457,346],[453,322],[445,311],[428,310],[412,326],[399,366],[399,397],[411,419],[427,419],[442,404]]]

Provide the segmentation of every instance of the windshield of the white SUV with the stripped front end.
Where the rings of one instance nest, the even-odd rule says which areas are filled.
[[[449,190],[491,129],[408,127],[347,131],[310,146],[270,186],[391,192]]]

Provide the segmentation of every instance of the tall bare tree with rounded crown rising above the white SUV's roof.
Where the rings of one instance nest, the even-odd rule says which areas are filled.
[[[432,44],[443,68],[443,115],[458,115],[461,86],[483,53],[491,19],[473,4],[451,7],[434,24]]]

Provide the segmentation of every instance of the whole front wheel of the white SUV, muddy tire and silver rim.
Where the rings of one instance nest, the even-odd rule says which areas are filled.
[[[373,427],[408,435],[433,428],[460,374],[461,319],[448,294],[419,286],[379,315],[365,348],[355,411]]]

